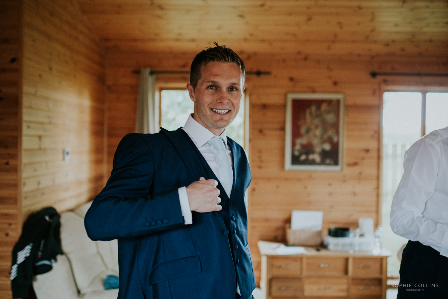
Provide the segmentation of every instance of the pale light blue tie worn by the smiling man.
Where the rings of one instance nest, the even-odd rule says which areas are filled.
[[[218,164],[220,182],[224,187],[227,196],[230,198],[230,192],[232,192],[233,185],[233,170],[232,165],[230,165],[230,159],[227,155],[224,140],[222,138],[213,137],[207,143],[216,151],[216,164]]]

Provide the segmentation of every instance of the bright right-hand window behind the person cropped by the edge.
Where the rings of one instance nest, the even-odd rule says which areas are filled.
[[[424,134],[448,126],[447,92],[385,92],[383,94],[383,246],[392,252],[388,276],[399,276],[396,252],[407,239],[392,232],[392,198],[403,175],[405,151]]]

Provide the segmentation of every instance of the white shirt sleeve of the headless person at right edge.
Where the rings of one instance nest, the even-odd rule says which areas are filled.
[[[422,139],[405,153],[405,173],[393,197],[390,225],[394,233],[441,248],[440,254],[448,256],[447,225],[423,217],[431,215],[431,211],[424,210],[426,201],[435,193],[439,157],[439,150]]]

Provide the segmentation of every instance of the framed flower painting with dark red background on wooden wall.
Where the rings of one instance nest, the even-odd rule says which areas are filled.
[[[344,107],[343,94],[287,94],[285,170],[342,170]]]

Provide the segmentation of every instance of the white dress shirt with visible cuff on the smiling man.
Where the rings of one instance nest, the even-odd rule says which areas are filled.
[[[188,136],[190,136],[191,140],[193,140],[194,145],[198,147],[199,152],[201,152],[204,159],[207,161],[213,173],[215,173],[216,178],[220,179],[220,172],[218,171],[218,164],[216,163],[216,151],[210,144],[207,143],[211,138],[222,138],[224,140],[225,147],[227,149],[227,156],[230,160],[230,165],[232,164],[232,152],[228,150],[227,144],[227,135],[226,129],[224,132],[216,136],[211,133],[207,128],[202,126],[200,123],[194,120],[194,118],[190,115],[188,117],[185,126],[182,128]],[[199,181],[199,178],[197,178]],[[178,189],[179,191],[179,200],[181,202],[181,211],[182,216],[184,217],[185,224],[192,224],[193,217],[191,215],[190,203],[188,201],[187,191],[185,187],[181,187]]]

